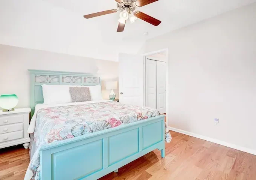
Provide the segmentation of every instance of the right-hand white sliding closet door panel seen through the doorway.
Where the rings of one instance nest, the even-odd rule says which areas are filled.
[[[157,61],[157,110],[166,113],[166,63]]]

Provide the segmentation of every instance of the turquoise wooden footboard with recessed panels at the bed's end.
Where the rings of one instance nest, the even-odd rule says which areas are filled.
[[[96,180],[156,148],[165,157],[165,115],[43,145],[41,180]]]

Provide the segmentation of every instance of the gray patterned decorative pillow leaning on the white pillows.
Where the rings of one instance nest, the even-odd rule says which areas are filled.
[[[91,101],[90,89],[88,87],[69,87],[72,102]]]

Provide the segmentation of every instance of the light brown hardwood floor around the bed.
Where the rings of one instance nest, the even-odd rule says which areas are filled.
[[[166,157],[154,150],[100,180],[256,180],[256,156],[172,132]],[[29,150],[0,149],[0,179],[24,178]]]

